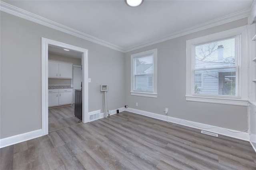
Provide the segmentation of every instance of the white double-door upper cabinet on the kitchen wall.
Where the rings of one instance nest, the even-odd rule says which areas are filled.
[[[48,78],[72,79],[73,64],[60,61],[48,61]]]

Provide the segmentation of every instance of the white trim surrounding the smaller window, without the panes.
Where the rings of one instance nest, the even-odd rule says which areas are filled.
[[[147,55],[153,55],[153,92],[134,91],[135,89],[135,76],[134,76],[134,58],[146,57]],[[140,53],[131,55],[131,95],[143,96],[143,97],[154,97],[157,98],[157,49],[151,49]]]

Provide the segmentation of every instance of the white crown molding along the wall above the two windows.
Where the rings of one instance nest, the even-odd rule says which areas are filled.
[[[216,27],[216,26],[227,24],[229,22],[233,22],[233,21],[236,21],[236,20],[247,18],[249,16],[249,14],[250,14],[250,9],[242,10],[240,12],[236,12],[234,14],[230,14],[228,16],[224,16],[224,17],[218,18],[216,20],[211,20],[211,21],[205,22],[203,24],[192,26],[190,28],[186,28],[186,29],[180,30],[178,32],[167,34],[165,36],[161,36],[159,38],[149,40],[147,42],[143,42],[143,43],[128,47],[128,48],[125,49],[124,52],[126,53],[126,52],[129,52],[129,51],[140,49],[142,47],[147,47],[149,45],[164,42],[164,41],[171,40],[171,39],[174,39],[174,38],[177,38],[177,37],[185,36],[185,35],[192,34],[192,33],[198,32],[198,31],[202,31],[202,30],[206,30],[208,28],[213,28],[213,27]]]

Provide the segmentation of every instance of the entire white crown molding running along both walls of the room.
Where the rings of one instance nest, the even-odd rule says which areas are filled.
[[[33,14],[31,12],[28,12],[26,10],[22,10],[20,8],[17,8],[15,6],[12,6],[10,4],[7,4],[5,2],[0,1],[0,11],[6,12],[8,14],[12,14],[14,16],[18,16],[20,18],[35,22],[37,24],[41,24],[43,26],[53,28],[55,30],[64,32],[66,34],[70,34],[72,36],[76,36],[78,38],[82,38],[84,40],[88,40],[90,42],[94,42],[94,43],[97,43],[97,44],[103,45],[105,47],[109,47],[111,49],[115,49],[117,51],[121,51],[121,52],[124,52],[124,53],[129,52],[129,51],[133,51],[133,50],[136,50],[136,49],[140,49],[142,47],[146,47],[146,46],[149,46],[149,45],[153,45],[153,44],[156,44],[156,43],[171,40],[171,39],[174,39],[174,38],[177,38],[177,37],[192,34],[192,33],[198,32],[198,31],[206,30],[208,28],[213,28],[213,27],[216,27],[216,26],[220,26],[222,24],[227,24],[229,22],[233,22],[233,21],[240,20],[240,19],[243,19],[243,18],[247,18],[250,15],[250,10],[251,9],[246,9],[246,10],[243,10],[243,11],[240,11],[240,12],[236,12],[234,14],[230,14],[228,16],[224,16],[224,17],[218,18],[216,20],[211,20],[211,21],[205,22],[203,24],[192,26],[190,28],[186,28],[186,29],[180,30],[178,32],[167,34],[167,35],[161,36],[159,38],[155,38],[155,39],[143,42],[143,43],[139,43],[137,45],[132,45],[128,48],[124,48],[124,47],[106,42],[106,41],[101,40],[99,38],[90,36],[88,34],[80,32],[78,30],[69,28],[69,27],[64,26],[62,24],[59,24],[57,22],[48,20],[46,18],[43,18],[41,16],[38,16],[38,15]]]

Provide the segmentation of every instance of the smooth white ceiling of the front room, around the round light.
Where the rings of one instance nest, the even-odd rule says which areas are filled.
[[[253,0],[8,0],[8,4],[122,49],[247,10]]]

